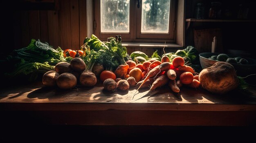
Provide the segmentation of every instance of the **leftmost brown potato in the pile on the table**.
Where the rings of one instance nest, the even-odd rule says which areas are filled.
[[[43,75],[43,85],[45,86],[56,86],[56,80],[60,74],[54,70],[50,70]]]

